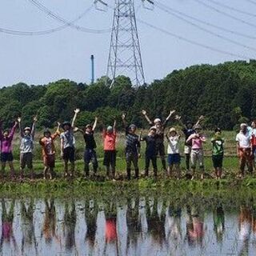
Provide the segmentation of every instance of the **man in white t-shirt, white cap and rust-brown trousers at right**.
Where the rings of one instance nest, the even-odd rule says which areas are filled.
[[[240,126],[240,132],[236,136],[237,153],[240,158],[240,173],[239,178],[242,178],[245,174],[246,164],[250,174],[253,172],[253,153],[251,148],[251,134],[247,130],[246,123],[242,123]]]

